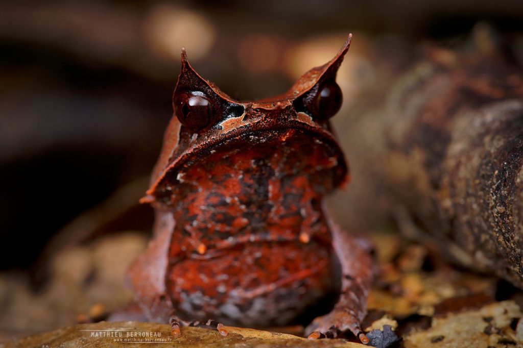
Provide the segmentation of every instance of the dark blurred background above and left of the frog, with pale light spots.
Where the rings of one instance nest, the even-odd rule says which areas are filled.
[[[517,0],[1,2],[0,268],[33,269],[58,231],[118,188],[134,183],[123,205],[139,198],[181,47],[233,98],[256,99],[285,91],[353,32],[339,76],[347,110],[381,78],[374,62],[401,71],[419,42],[461,45],[479,23],[522,47],[522,19]]]

